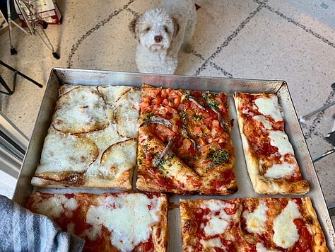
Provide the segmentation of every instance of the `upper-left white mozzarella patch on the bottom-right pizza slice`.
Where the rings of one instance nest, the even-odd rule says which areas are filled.
[[[208,202],[204,203],[204,207],[208,207],[211,210],[208,215],[204,215],[204,219],[207,219],[208,221],[204,226],[206,236],[223,234],[232,219],[224,209],[225,207],[231,208],[231,204],[221,200],[208,200]]]

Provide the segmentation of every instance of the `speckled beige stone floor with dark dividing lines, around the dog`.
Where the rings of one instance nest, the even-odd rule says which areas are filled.
[[[128,24],[156,6],[155,0],[57,1],[61,25],[46,32],[60,55],[52,57],[40,38],[13,28],[11,55],[8,33],[0,35],[0,59],[43,84],[38,88],[18,76],[12,96],[0,94],[0,110],[28,137],[53,67],[137,71],[136,40]],[[194,52],[180,53],[176,74],[244,79],[280,79],[288,83],[298,117],[334,101],[334,0],[196,1],[198,23]],[[0,66],[11,84],[11,71]],[[301,124],[312,158],[332,149],[325,141],[335,106]],[[335,154],[315,162],[327,202],[335,202]]]

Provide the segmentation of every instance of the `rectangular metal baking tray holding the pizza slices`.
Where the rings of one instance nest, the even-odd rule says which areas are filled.
[[[314,164],[307,148],[305,138],[303,136],[298,116],[295,113],[295,108],[288,91],[288,85],[285,81],[272,80],[252,80],[252,79],[226,79],[213,77],[199,77],[199,76],[176,76],[176,75],[158,75],[158,74],[139,74],[120,71],[97,71],[86,69],[62,69],[54,68],[49,75],[49,81],[45,88],[45,95],[42,99],[40,111],[37,115],[35,127],[33,129],[32,137],[28,145],[28,150],[23,160],[23,165],[18,177],[18,183],[13,195],[13,200],[18,204],[24,206],[27,197],[33,190],[50,191],[50,193],[68,193],[70,189],[40,189],[33,188],[30,180],[35,173],[36,166],[40,161],[40,154],[42,151],[43,142],[47,135],[54,106],[57,101],[59,87],[63,84],[71,85],[125,85],[141,87],[143,83],[157,87],[171,87],[182,88],[189,90],[201,90],[211,92],[225,92],[228,94],[228,105],[230,118],[233,118],[233,128],[231,136],[235,148],[235,172],[237,176],[237,184],[239,190],[237,193],[229,196],[204,196],[204,195],[189,195],[170,197],[169,210],[169,251],[182,251],[181,239],[181,224],[180,224],[180,210],[178,207],[180,197],[183,198],[221,198],[231,199],[235,197],[302,197],[296,195],[259,195],[254,193],[252,183],[247,174],[247,167],[245,164],[245,156],[242,150],[242,142],[240,132],[237,125],[237,115],[233,101],[234,91],[246,91],[252,93],[276,93],[278,95],[281,107],[283,108],[283,116],[286,122],[285,130],[288,134],[290,142],[295,150],[295,155],[302,171],[302,178],[309,181],[310,192],[304,196],[308,196],[312,200],[315,207],[319,223],[324,231],[327,239],[327,246],[329,248],[335,247],[334,227],[331,223],[331,218],[327,210],[327,205],[322,193],[317,173],[315,172]],[[135,175],[136,176],[136,175]],[[135,177],[134,176],[134,177]],[[74,191],[88,191],[92,193],[103,193],[109,190],[78,190]]]

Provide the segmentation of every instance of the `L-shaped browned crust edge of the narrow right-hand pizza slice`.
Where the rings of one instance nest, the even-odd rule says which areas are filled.
[[[300,180],[291,182],[281,178],[266,178],[265,176],[261,176],[259,173],[259,159],[257,156],[254,156],[252,150],[249,149],[250,144],[248,142],[247,136],[244,133],[243,126],[245,125],[245,117],[239,109],[242,104],[242,98],[239,96],[239,92],[235,92],[234,101],[237,111],[238,127],[242,139],[242,147],[245,153],[245,161],[254,191],[259,194],[269,195],[274,195],[277,193],[283,195],[302,195],[308,193],[310,190],[310,185],[307,181]]]

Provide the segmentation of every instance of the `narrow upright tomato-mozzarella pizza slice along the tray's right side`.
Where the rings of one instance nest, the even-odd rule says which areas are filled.
[[[256,193],[305,194],[302,174],[288,135],[278,96],[235,92],[237,121],[249,177]]]

